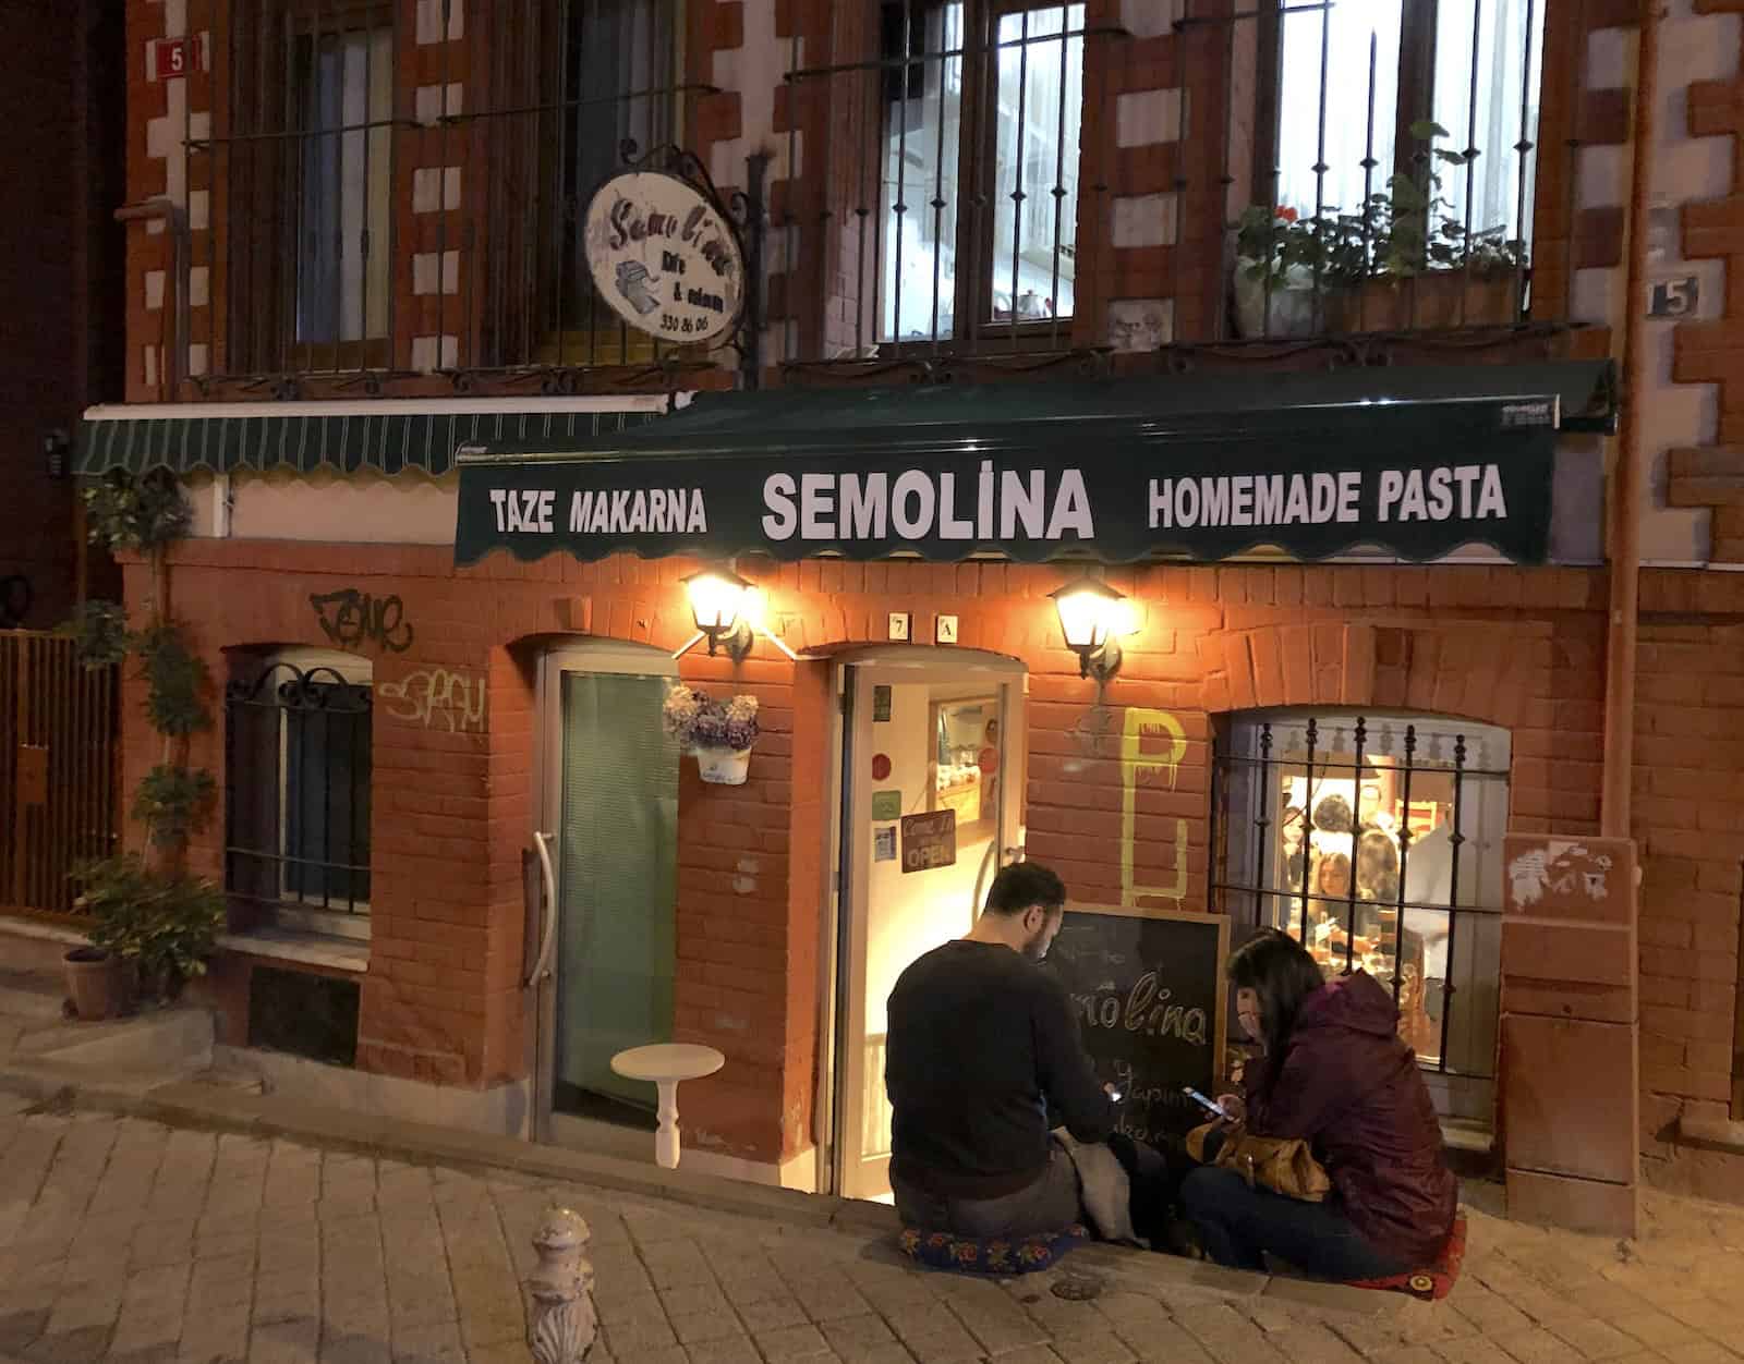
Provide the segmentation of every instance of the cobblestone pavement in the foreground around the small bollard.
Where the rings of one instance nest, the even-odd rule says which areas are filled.
[[[1012,1284],[917,1273],[841,1231],[0,1099],[0,1364],[523,1364],[521,1284],[553,1198],[593,1228],[600,1364],[1695,1364],[1744,1352],[1744,1211],[1664,1197],[1627,1245],[1474,1209],[1467,1273],[1439,1306],[1366,1298],[1397,1310],[1359,1317],[1311,1286],[1261,1296],[1259,1279],[1226,1279],[1219,1294],[1149,1256],[1073,1301],[1050,1289],[1083,1282],[1074,1259],[1106,1258]]]

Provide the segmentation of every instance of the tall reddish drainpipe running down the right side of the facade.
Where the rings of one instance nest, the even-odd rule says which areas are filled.
[[[1604,658],[1604,792],[1599,832],[1627,839],[1634,780],[1636,661],[1641,598],[1641,406],[1646,389],[1645,319],[1646,204],[1659,124],[1659,19],[1664,0],[1643,0],[1636,45],[1634,148],[1629,176],[1629,263],[1624,290],[1624,391],[1617,469],[1611,474],[1611,619]]]

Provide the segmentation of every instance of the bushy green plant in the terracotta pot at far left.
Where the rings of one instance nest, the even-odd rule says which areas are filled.
[[[223,891],[215,884],[148,867],[138,853],[89,862],[73,877],[84,888],[77,907],[91,914],[91,945],[124,970],[131,966],[146,998],[171,1003],[188,977],[206,973],[225,917]],[[78,1017],[85,1017],[72,956],[68,985]]]

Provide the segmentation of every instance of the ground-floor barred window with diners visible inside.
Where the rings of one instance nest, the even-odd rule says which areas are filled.
[[[1256,712],[1216,741],[1212,909],[1393,991],[1446,1116],[1488,1122],[1500,998],[1505,729]]]

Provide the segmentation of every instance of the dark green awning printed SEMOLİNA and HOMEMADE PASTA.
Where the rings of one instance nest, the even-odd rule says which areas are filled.
[[[1608,361],[698,396],[614,438],[462,447],[455,562],[1488,544],[1531,563],[1557,433],[1613,420]]]

